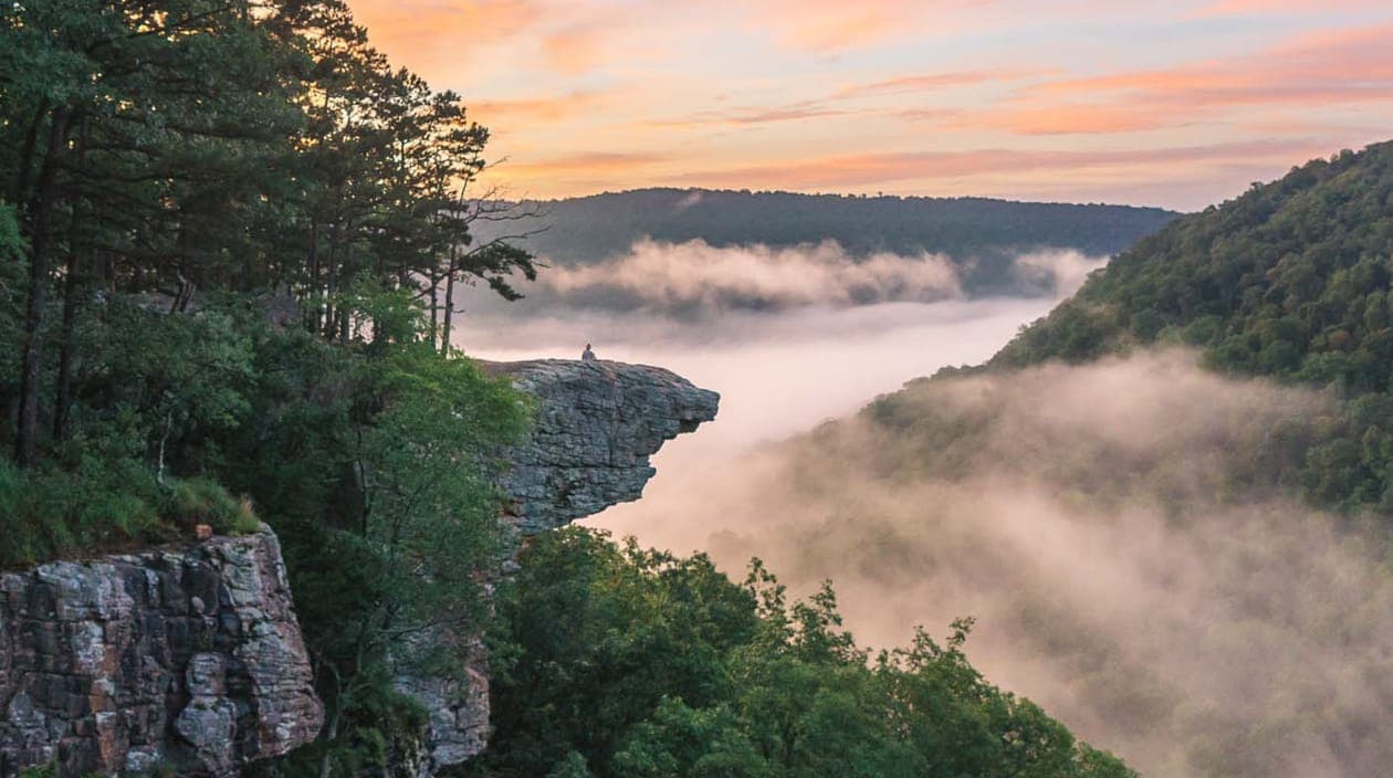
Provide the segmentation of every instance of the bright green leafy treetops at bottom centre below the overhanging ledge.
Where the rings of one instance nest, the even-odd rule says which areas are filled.
[[[499,600],[497,727],[478,775],[1133,775],[939,644],[866,653],[825,587],[790,604],[758,562],[733,583],[566,529]]]

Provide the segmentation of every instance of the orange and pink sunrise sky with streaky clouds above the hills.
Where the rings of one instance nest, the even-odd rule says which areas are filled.
[[[1198,210],[1393,136],[1387,0],[350,0],[486,185]]]

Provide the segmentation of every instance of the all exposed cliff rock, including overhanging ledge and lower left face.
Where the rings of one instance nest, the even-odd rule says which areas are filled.
[[[536,401],[503,487],[504,519],[534,534],[637,500],[664,441],[716,416],[719,397],[657,367],[485,363]],[[3,541],[3,539],[0,539]],[[403,675],[430,711],[403,767],[460,764],[488,739],[486,657],[458,678]],[[0,778],[173,771],[237,775],[313,740],[323,720],[280,544],[249,537],[52,562],[0,575]]]

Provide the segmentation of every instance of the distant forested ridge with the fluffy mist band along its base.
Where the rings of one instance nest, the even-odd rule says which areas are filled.
[[[1177,216],[1107,205],[706,189],[639,189],[518,206],[507,220],[481,220],[476,239],[518,237],[518,245],[550,264],[534,294],[620,309],[653,302],[635,288],[644,276],[673,280],[676,273],[655,266],[677,266],[691,277],[720,273],[723,260],[733,266],[723,276],[744,276],[744,285],[712,284],[724,294],[705,302],[727,308],[787,303],[780,295],[787,289],[748,284],[769,264],[800,260],[814,273],[859,267],[834,280],[837,294],[859,302],[929,301],[942,296],[947,283],[972,298],[1045,296],[1056,292],[1053,278],[1018,257],[1068,251],[1110,256]],[[901,266],[883,267],[894,263]],[[924,264],[951,269],[951,278],[924,278]],[[748,276],[731,271],[734,266]],[[698,301],[677,295],[669,302],[681,312]]]

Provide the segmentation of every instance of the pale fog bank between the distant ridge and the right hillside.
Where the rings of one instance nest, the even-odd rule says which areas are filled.
[[[972,299],[933,255],[645,241],[606,264],[520,281],[527,296],[517,302],[465,288],[453,341],[495,360],[575,359],[593,344],[600,359],[656,365],[719,391],[719,420],[659,455],[655,493],[663,472],[684,468],[669,458],[726,457],[851,413],[939,367],[982,362],[1103,263],[1031,252],[1017,273],[1049,294]]]

